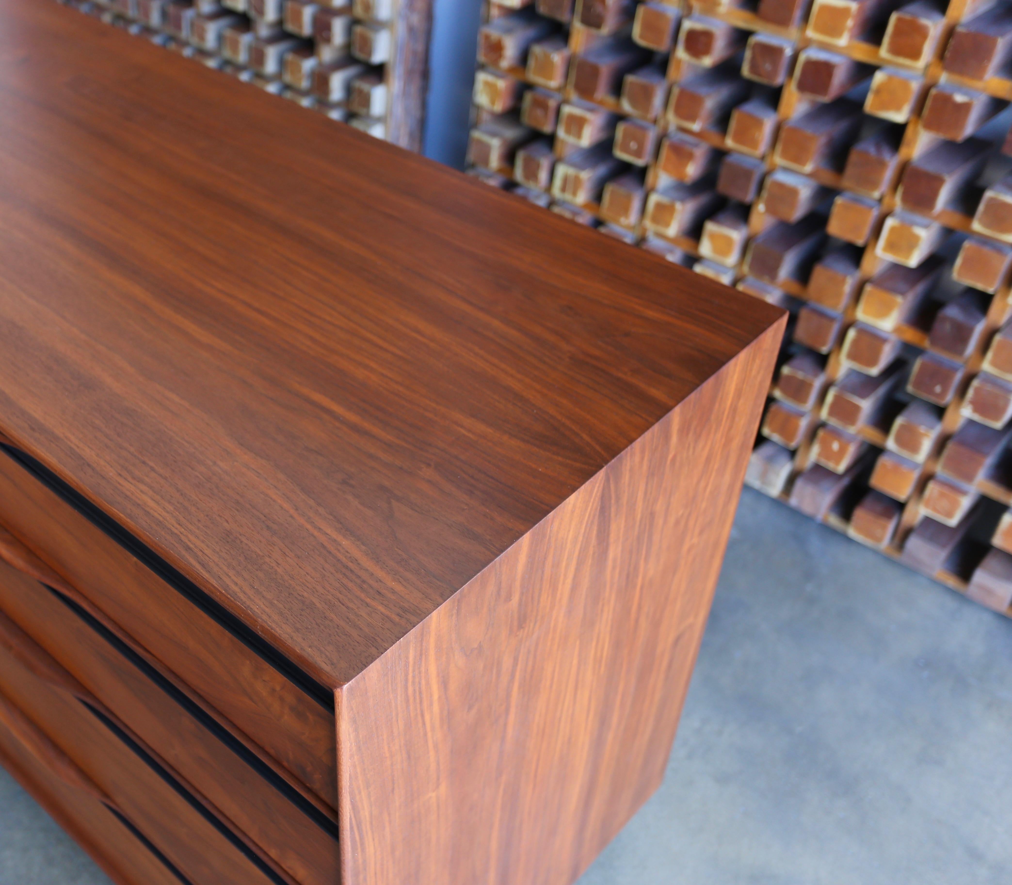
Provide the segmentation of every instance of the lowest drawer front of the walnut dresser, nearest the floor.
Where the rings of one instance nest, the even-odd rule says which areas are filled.
[[[102,869],[121,885],[186,885],[182,874],[151,841],[98,795],[66,775],[69,760],[54,759],[25,739],[30,723],[11,723],[17,711],[0,698],[0,765]],[[4,714],[7,715],[4,715]],[[11,727],[13,725],[13,728]]]

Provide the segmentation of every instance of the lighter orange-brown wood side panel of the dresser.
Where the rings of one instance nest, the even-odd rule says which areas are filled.
[[[572,882],[658,787],[780,331],[337,693],[345,885]]]

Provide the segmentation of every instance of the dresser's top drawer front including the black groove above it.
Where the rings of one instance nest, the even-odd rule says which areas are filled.
[[[0,524],[336,808],[333,696],[40,465],[0,452]]]

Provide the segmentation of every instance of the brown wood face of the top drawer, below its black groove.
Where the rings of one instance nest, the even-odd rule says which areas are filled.
[[[3,529],[45,562],[12,555],[2,531],[0,559],[105,616],[255,746],[337,807],[333,709],[0,452]]]

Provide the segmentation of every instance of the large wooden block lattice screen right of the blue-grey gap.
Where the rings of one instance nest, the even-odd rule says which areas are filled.
[[[1012,2],[485,21],[474,174],[793,315],[749,484],[1012,614]]]

